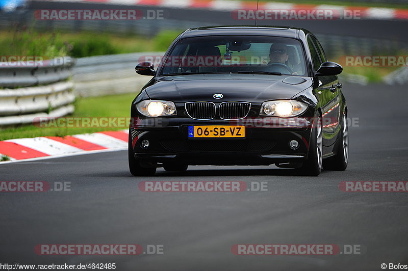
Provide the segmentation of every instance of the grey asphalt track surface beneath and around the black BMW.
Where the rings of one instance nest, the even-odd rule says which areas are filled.
[[[68,192],[1,193],[0,262],[116,263],[117,270],[381,270],[408,263],[407,193],[346,193],[341,181],[407,180],[406,86],[344,84],[345,172],[190,166],[133,177],[125,151],[0,165],[1,181],[71,182]],[[142,180],[267,182],[264,192],[167,192]],[[39,256],[37,244],[164,245],[163,255]],[[352,244],[361,255],[237,256],[234,244]]]

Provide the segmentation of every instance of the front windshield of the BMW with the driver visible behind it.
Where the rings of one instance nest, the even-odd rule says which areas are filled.
[[[211,36],[178,41],[159,76],[202,73],[306,75],[300,41],[266,36]]]

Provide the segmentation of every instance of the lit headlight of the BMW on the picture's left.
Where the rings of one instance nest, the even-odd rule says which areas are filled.
[[[144,100],[136,104],[136,109],[146,117],[177,115],[175,104],[171,101]]]

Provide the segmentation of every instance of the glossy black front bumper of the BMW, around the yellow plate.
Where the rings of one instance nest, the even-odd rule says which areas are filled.
[[[200,121],[184,118],[142,119],[131,125],[131,140],[135,158],[147,164],[176,162],[187,165],[271,165],[301,162],[307,158],[310,125],[276,125],[270,122],[256,125],[237,121],[245,126],[245,138],[192,139],[190,125],[234,125],[231,121]],[[143,149],[141,142],[149,141]],[[289,142],[299,147],[292,150]]]

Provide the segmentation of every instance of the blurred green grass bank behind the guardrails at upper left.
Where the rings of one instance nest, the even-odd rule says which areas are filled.
[[[137,35],[94,32],[40,32],[31,29],[0,31],[0,56],[41,56],[44,59],[165,51],[181,31],[162,31],[147,39]]]

